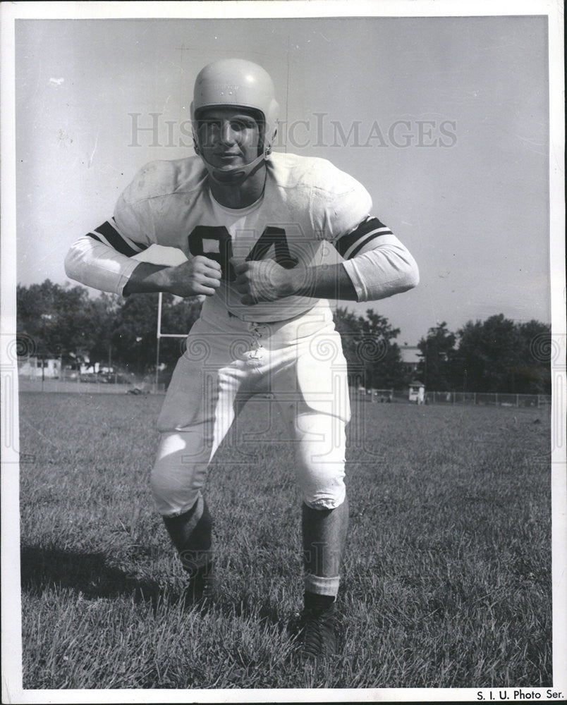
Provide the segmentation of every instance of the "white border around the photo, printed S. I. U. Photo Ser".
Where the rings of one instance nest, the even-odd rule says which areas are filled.
[[[551,456],[553,537],[553,679],[567,692],[567,482],[564,422],[567,410],[565,372],[565,201],[563,8],[559,0],[384,0],[219,1],[219,2],[23,2],[2,3],[1,12],[1,412],[2,412],[2,699],[17,703],[99,702],[284,702],[284,701],[476,701],[477,688],[461,689],[317,689],[317,690],[24,690],[21,672],[21,602],[19,563],[19,489],[17,369],[10,368],[16,330],[16,153],[15,21],[17,19],[97,18],[301,18],[301,17],[441,17],[545,15],[549,29],[550,115],[550,276],[552,336],[559,346],[553,372],[551,407],[554,429]],[[12,346],[12,347],[11,347]],[[12,363],[13,364],[13,363]],[[506,687],[508,699],[511,687]],[[545,697],[544,688],[534,688]],[[487,692],[488,689],[482,689]],[[488,698],[487,698],[488,699]]]

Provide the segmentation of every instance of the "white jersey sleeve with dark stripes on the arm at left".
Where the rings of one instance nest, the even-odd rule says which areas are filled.
[[[114,216],[71,245],[65,259],[67,276],[95,289],[121,294],[138,259],[154,243],[150,193],[156,167],[148,164],[121,194]]]

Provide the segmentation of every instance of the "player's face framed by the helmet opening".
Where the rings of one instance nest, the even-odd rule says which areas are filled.
[[[199,116],[199,143],[202,156],[222,171],[245,166],[258,156],[260,123],[241,108],[209,108]]]

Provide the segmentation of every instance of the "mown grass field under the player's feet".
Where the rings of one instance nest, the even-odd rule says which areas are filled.
[[[551,685],[549,417],[366,404],[350,429],[340,656],[293,656],[300,505],[267,401],[207,497],[219,599],[183,608],[149,473],[162,398],[20,398],[25,688]],[[249,434],[243,436],[243,434]]]

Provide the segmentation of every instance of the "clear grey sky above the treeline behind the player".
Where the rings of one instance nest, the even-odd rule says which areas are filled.
[[[349,308],[409,345],[441,321],[551,320],[545,16],[16,20],[18,283],[66,283],[140,166],[193,154],[195,76],[229,56],[274,79],[275,151],[357,178],[420,266]]]

